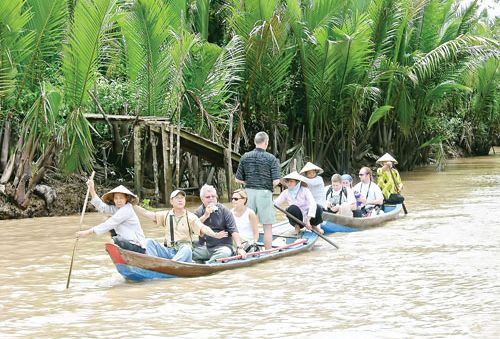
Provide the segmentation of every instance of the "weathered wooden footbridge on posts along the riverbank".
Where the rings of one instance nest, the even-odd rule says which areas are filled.
[[[145,153],[149,150],[148,147],[151,147],[154,194],[156,198],[162,198],[157,200],[163,200],[168,204],[171,192],[177,188],[183,189],[179,187],[183,172],[180,158],[183,152],[188,152],[190,155],[212,164],[213,168],[209,178],[213,177],[215,168],[223,169],[227,199],[230,199],[234,186],[233,171],[237,168],[240,160],[240,155],[233,152],[230,145],[223,147],[204,137],[178,128],[178,126],[171,124],[168,119],[161,117],[103,114],[85,114],[85,117],[91,124],[106,123],[115,142],[119,138],[120,125],[133,125],[134,190],[140,197],[143,197],[144,192],[144,162],[149,161],[146,160]],[[207,181],[210,183],[211,179]],[[187,189],[195,190],[197,188],[196,184],[194,187],[187,187]]]

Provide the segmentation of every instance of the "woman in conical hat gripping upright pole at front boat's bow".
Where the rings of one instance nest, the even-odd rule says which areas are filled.
[[[139,198],[125,186],[118,186],[99,198],[95,191],[94,180],[87,181],[92,195],[91,203],[98,212],[112,214],[105,222],[76,233],[77,237],[87,237],[91,234],[104,234],[114,230],[113,241],[118,246],[139,253],[146,251],[146,237],[135,214],[132,204],[137,204]]]

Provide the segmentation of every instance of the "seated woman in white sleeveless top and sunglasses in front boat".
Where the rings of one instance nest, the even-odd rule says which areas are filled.
[[[259,220],[255,212],[247,207],[248,195],[244,189],[233,192],[231,213],[236,221],[241,242],[245,248],[259,240]]]

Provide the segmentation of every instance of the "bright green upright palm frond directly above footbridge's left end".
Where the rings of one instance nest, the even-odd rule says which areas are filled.
[[[76,4],[62,64],[65,101],[70,110],[82,107],[89,97],[88,90],[96,79],[102,41],[115,12],[115,0],[82,0]]]

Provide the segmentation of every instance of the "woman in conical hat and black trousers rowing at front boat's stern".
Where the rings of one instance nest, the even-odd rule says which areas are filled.
[[[317,232],[323,234],[324,232],[321,229],[323,208],[316,204],[311,191],[306,187],[307,184],[305,181],[306,178],[297,173],[297,171],[285,175],[282,182],[286,185],[287,189],[281,192],[274,200],[274,204],[281,205],[284,202],[288,203],[288,208],[286,209],[288,213],[302,220],[306,228],[314,228]],[[297,233],[303,227],[290,217],[288,220],[295,227]]]

